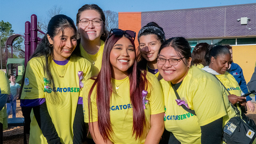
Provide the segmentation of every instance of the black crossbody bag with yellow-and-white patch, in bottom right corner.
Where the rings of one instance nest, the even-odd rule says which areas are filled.
[[[231,118],[223,128],[222,140],[227,144],[251,144],[255,137],[255,131],[240,117]]]

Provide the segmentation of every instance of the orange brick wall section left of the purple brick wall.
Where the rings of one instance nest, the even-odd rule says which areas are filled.
[[[118,13],[118,28],[122,30],[132,30],[136,32],[134,40],[135,47],[139,46],[137,35],[141,29],[141,12],[119,12]]]

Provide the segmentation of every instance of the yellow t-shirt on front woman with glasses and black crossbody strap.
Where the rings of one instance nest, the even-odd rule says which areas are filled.
[[[201,143],[200,126],[223,117],[224,126],[235,116],[224,87],[213,75],[195,66],[191,67],[179,86],[177,93],[187,101],[197,116],[177,105],[171,82],[160,80],[165,100],[165,128],[182,144]]]

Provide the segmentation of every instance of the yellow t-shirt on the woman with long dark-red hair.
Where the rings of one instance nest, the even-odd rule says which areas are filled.
[[[141,138],[135,140],[133,136],[133,107],[130,102],[130,83],[129,78],[126,77],[122,80],[115,80],[112,78],[113,93],[110,100],[110,121],[113,128],[112,139],[113,143],[123,144],[123,143],[144,143],[147,133],[150,130],[150,115],[159,114],[164,112],[164,101],[163,93],[157,78],[150,73],[147,73],[148,80],[148,91],[147,100],[149,102],[145,105],[145,119],[146,125],[143,129],[143,134]],[[88,93],[93,84],[94,80],[89,79],[86,81],[85,85],[88,85],[87,89],[83,89],[83,109],[85,114],[85,122],[89,122],[88,114]],[[117,91],[116,87],[119,86]],[[118,93],[117,93],[118,92]],[[96,89],[93,90],[91,94],[91,106],[90,109],[90,122],[98,121],[98,111],[96,103]],[[92,116],[91,116],[92,114]]]

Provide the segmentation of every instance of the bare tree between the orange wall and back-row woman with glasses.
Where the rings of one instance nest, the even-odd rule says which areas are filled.
[[[111,29],[118,29],[118,13],[111,10],[103,11],[106,17],[106,29],[110,31]]]

